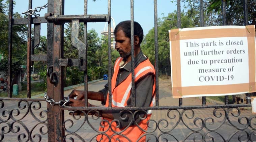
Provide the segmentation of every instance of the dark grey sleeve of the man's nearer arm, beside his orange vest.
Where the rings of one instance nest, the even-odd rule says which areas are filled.
[[[135,83],[135,91],[136,91],[136,107],[148,107],[151,103],[152,99],[152,91],[154,84],[154,75],[146,75],[142,77]],[[127,100],[127,106],[132,106],[132,95],[130,94],[129,99]],[[134,111],[133,111],[134,112]],[[133,120],[133,116],[130,113],[122,113],[121,117],[125,117],[127,115],[127,119],[122,120],[119,117],[119,112],[113,112],[114,119],[118,119],[120,121],[120,128],[124,128]],[[135,120],[137,123],[141,121],[139,116],[143,117],[144,113],[137,113],[135,116]],[[134,125],[134,123],[132,123]]]

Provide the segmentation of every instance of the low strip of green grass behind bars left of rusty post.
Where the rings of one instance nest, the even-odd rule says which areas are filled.
[[[35,96],[38,94],[45,93],[44,87],[40,86],[40,82],[38,83],[31,83],[31,96]],[[0,97],[8,97],[7,93],[0,93]],[[14,98],[27,98],[27,84],[22,84],[22,91],[19,91],[17,96],[12,95]]]

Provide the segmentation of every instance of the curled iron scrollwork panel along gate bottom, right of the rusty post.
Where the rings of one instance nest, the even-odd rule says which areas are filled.
[[[119,112],[119,119],[101,119],[101,122],[99,122],[99,126],[96,126],[95,123],[90,122],[92,120],[98,120],[100,118],[99,111],[88,111],[87,113],[84,112],[83,115],[85,115],[84,118],[86,119],[84,120],[84,122],[87,121],[92,130],[95,131],[95,134],[90,137],[89,141],[95,141],[97,136],[100,136],[97,137],[97,140],[101,139],[102,141],[132,141],[131,139],[129,139],[130,137],[127,137],[125,130],[127,130],[131,126],[134,127],[134,125],[143,132],[143,134],[138,138],[137,141],[255,141],[256,116],[251,116],[250,118],[247,118],[246,116],[240,116],[240,112],[238,112],[239,110],[237,110],[237,112],[232,111],[231,114],[229,113],[231,112],[230,110],[232,109],[203,109],[201,113],[204,113],[204,111],[212,112],[211,114],[207,114],[212,116],[205,118],[202,118],[200,115],[196,114],[198,111],[201,110],[161,110],[164,111],[166,115],[165,117],[160,118],[158,121],[154,119],[147,120],[147,112],[144,110],[123,110]],[[95,114],[97,116],[90,116],[89,114]],[[231,116],[228,116],[228,114],[230,114]],[[245,131],[237,129],[235,130],[235,132],[230,131],[230,133],[232,134],[223,135],[222,128],[232,129],[234,125],[232,123],[229,124],[229,121],[227,121],[228,117],[229,121],[232,121],[234,123],[234,121],[236,120],[237,124],[243,125],[242,128],[250,128],[252,130]],[[234,119],[233,117],[237,119]],[[78,120],[81,118],[82,116],[74,116],[73,119]],[[140,128],[140,123],[136,121],[138,119],[147,120],[147,130]],[[72,120],[66,120],[66,122],[67,121],[70,121],[71,126],[73,126]],[[122,128],[120,125],[120,121],[126,121],[127,125]],[[181,123],[183,123],[183,125],[188,128],[187,130],[184,129],[184,131],[182,132],[183,134],[188,134],[185,135],[183,138],[180,137],[183,134],[177,134],[179,133],[179,124]],[[84,125],[84,123],[82,125]],[[111,125],[112,127],[109,127]],[[228,128],[226,126],[228,126]],[[99,131],[98,127],[104,128],[104,131]],[[79,129],[81,128],[79,127],[78,129],[76,129],[76,131],[72,132],[68,132],[65,129],[65,131],[68,132],[66,137],[70,135],[71,137],[69,138],[69,140],[71,141],[80,140],[80,138],[77,137],[77,130]],[[114,132],[114,134],[108,135],[107,131],[112,131]],[[68,138],[66,138],[66,140],[68,140]],[[87,140],[88,138],[86,138],[86,141]]]

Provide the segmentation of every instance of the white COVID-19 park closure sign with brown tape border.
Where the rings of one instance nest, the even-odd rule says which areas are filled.
[[[255,92],[255,27],[169,30],[173,98]]]

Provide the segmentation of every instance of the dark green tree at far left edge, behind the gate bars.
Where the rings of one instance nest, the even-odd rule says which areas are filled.
[[[0,71],[3,71],[7,75],[8,71],[8,2],[5,3],[0,0],[0,54],[3,54],[4,59],[1,60]],[[15,2],[13,3],[15,5]],[[21,18],[19,13],[13,13],[13,18]],[[12,79],[13,83],[18,83],[18,72],[20,71],[20,65],[26,63],[26,25],[13,25],[12,27]],[[10,80],[8,80],[10,82]]]

